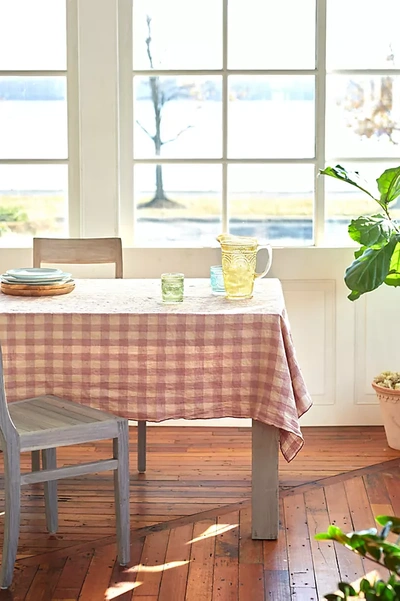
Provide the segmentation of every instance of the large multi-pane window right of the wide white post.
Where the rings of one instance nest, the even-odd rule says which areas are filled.
[[[347,244],[349,217],[376,208],[319,169],[373,177],[399,153],[400,5],[382,0],[381,28],[376,10],[133,0],[135,244]]]

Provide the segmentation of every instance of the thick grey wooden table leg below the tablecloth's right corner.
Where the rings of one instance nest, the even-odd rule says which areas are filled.
[[[279,429],[252,421],[252,538],[276,539]]]

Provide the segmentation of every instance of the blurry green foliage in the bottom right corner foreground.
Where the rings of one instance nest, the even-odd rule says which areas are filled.
[[[327,532],[322,532],[315,536],[316,540],[333,540],[344,545],[354,553],[368,557],[371,561],[380,566],[385,566],[391,572],[388,580],[376,580],[369,582],[363,578],[358,590],[348,582],[340,582],[338,593],[325,595],[327,601],[343,601],[343,599],[359,598],[359,593],[363,593],[367,601],[400,601],[400,519],[387,515],[380,515],[375,518],[383,529],[378,533],[376,528],[361,530],[359,532],[350,532],[345,534],[337,526],[329,526]],[[397,535],[395,542],[389,542],[387,537],[389,533]]]

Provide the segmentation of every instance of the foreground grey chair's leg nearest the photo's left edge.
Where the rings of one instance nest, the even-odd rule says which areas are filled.
[[[21,471],[20,451],[4,451],[5,523],[3,559],[1,564],[0,588],[8,588],[12,582],[15,559],[17,557],[20,503]]]

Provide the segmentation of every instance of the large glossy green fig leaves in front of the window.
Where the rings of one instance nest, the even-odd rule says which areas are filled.
[[[400,225],[389,213],[389,205],[400,197],[400,166],[386,169],[378,177],[376,192],[357,171],[347,171],[341,165],[321,169],[320,175],[329,175],[355,186],[381,209],[375,215],[352,219],[349,224],[350,238],[361,246],[345,272],[344,281],[351,290],[348,298],[357,300],[382,284],[400,286]]]

